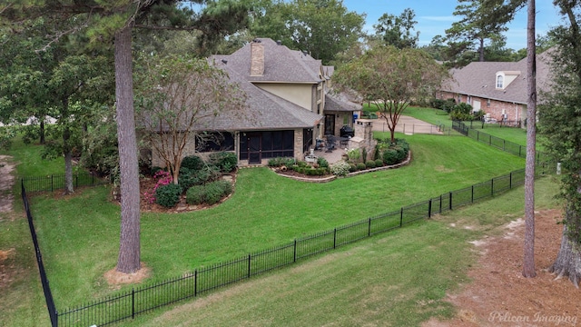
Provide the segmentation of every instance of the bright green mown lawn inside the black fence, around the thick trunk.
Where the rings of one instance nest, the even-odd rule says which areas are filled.
[[[150,281],[399,210],[524,165],[522,158],[466,137],[417,134],[407,140],[414,160],[397,170],[306,184],[267,168],[241,169],[235,193],[215,208],[143,213],[142,261],[152,271]],[[108,202],[109,192],[101,186],[58,201],[54,194],[31,200],[59,307],[111,292],[103,272],[115,264],[119,208]]]

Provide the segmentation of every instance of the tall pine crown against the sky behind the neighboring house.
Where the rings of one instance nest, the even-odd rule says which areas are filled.
[[[458,0],[454,15],[461,18],[446,30],[453,54],[476,50],[478,60],[484,61],[485,41],[503,39],[501,33],[507,31],[507,23],[522,5],[524,0]]]

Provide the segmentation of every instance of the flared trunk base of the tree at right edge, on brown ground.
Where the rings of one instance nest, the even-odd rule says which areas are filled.
[[[567,213],[568,215],[569,213]],[[579,288],[579,278],[581,277],[581,253],[578,246],[573,247],[573,243],[567,236],[567,227],[563,228],[563,236],[561,237],[561,248],[556,255],[556,261],[553,263],[548,271],[556,273],[556,278],[568,276],[569,280],[573,282],[576,288]]]

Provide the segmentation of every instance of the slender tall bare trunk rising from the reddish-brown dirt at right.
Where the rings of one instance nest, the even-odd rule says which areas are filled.
[[[527,165],[525,168],[525,244],[523,276],[535,277],[535,158],[537,156],[537,54],[535,0],[527,9]]]

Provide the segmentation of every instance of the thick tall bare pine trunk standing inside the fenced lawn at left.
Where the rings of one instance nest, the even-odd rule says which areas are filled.
[[[115,33],[115,96],[121,171],[121,238],[117,271],[140,269],[140,190],[133,109],[131,25]]]

